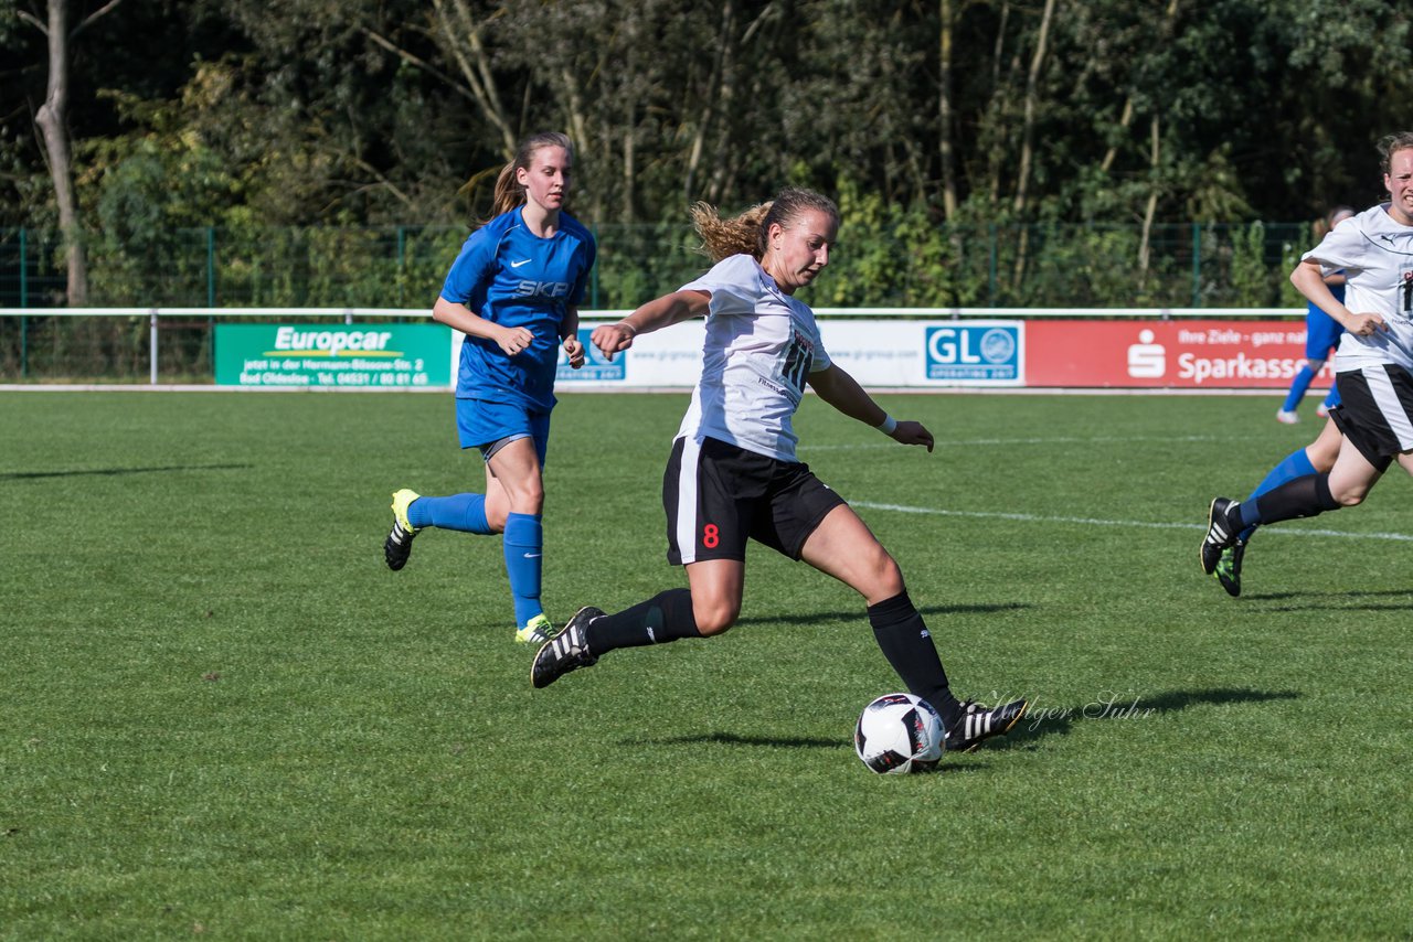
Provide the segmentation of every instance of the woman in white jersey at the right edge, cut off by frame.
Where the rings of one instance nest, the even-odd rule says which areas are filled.
[[[1255,499],[1212,500],[1201,547],[1208,575],[1248,527],[1354,507],[1395,460],[1413,473],[1413,131],[1385,137],[1379,155],[1389,202],[1331,230],[1290,274],[1345,329],[1335,360],[1341,404],[1330,411],[1340,456],[1328,472]],[[1332,268],[1345,270],[1342,304],[1323,277]]]

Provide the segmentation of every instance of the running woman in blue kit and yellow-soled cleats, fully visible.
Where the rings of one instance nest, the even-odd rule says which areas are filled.
[[[496,181],[495,217],[466,239],[432,316],[466,335],[456,376],[456,432],[486,465],[486,491],[422,497],[393,494],[393,530],[383,544],[390,569],[407,565],[425,527],[504,534],[516,640],[554,634],[540,604],[544,459],[554,408],[554,374],[564,347],[584,366],[579,308],[593,268],[593,236],[564,212],[574,150],[558,133],[536,134]]]

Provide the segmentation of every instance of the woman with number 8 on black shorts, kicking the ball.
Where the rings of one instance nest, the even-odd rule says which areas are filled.
[[[796,458],[790,419],[805,383],[845,415],[933,451],[933,434],[920,422],[893,419],[829,362],[814,312],[794,298],[829,263],[838,208],[820,193],[786,189],[733,219],[698,203],[692,222],[716,266],[592,338],[612,359],[640,333],[706,318],[702,376],[663,476],[667,555],[687,569],[690,589],[660,592],[616,614],[581,609],[541,645],[531,682],[547,686],[616,648],[726,631],[740,614],[749,538],[863,596],[885,657],[907,689],[942,715],[947,749],[964,751],[1007,732],[1026,700],[989,709],[958,702],[897,564]]]

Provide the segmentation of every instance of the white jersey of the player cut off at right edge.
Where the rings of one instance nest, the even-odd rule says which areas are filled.
[[[1388,206],[1347,219],[1303,256],[1325,271],[1344,268],[1344,306],[1389,325],[1368,338],[1345,332],[1334,360],[1340,373],[1385,363],[1413,371],[1413,226],[1395,222]]]

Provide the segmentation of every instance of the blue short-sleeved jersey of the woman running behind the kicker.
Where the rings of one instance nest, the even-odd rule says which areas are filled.
[[[554,407],[560,328],[584,301],[595,258],[593,236],[568,213],[548,239],[531,233],[520,208],[471,233],[447,273],[441,297],[507,328],[527,328],[534,342],[506,356],[493,340],[468,336],[461,347],[456,398]]]

